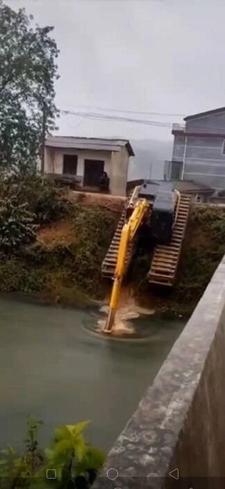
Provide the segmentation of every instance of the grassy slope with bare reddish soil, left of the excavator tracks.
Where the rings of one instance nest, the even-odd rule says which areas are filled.
[[[0,260],[0,290],[63,304],[103,297],[101,261],[116,222],[116,212],[74,205],[64,222],[41,228],[37,242],[19,256]]]

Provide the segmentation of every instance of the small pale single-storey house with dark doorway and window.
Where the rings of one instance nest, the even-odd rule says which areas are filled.
[[[110,194],[125,196],[129,157],[133,155],[127,139],[54,136],[45,141],[44,172],[67,176],[83,189],[98,191],[106,171]]]

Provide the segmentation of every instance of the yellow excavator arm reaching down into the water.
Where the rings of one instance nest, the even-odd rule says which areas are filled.
[[[126,256],[128,253],[128,247],[133,241],[138,228],[143,222],[144,217],[149,211],[150,203],[147,199],[140,199],[135,204],[131,217],[128,222],[124,224],[122,229],[122,235],[119,242],[119,250],[117,255],[117,265],[115,269],[115,276],[113,281],[113,289],[110,297],[110,307],[108,311],[108,318],[106,325],[103,327],[103,333],[110,334],[113,329],[115,321],[115,313],[117,311],[117,304],[119,301],[119,293],[122,286],[122,279],[126,272]]]

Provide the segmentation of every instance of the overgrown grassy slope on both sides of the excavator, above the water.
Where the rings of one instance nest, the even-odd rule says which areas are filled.
[[[119,213],[74,205],[64,222],[40,229],[38,241],[13,258],[0,259],[0,290],[35,293],[44,300],[78,304],[102,299],[101,278]],[[172,290],[153,290],[145,279],[147,256],[139,256],[129,283],[140,302],[156,309],[184,313],[194,309],[225,252],[225,209],[202,205],[192,210],[181,265]]]

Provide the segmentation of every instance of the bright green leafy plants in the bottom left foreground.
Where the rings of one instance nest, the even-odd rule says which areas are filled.
[[[88,424],[83,421],[60,426],[50,446],[43,451],[38,443],[42,421],[28,417],[23,453],[11,447],[0,451],[1,488],[89,489],[105,456],[85,440],[83,431]]]

